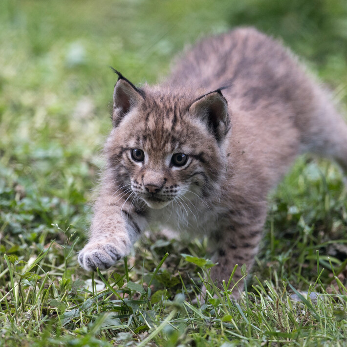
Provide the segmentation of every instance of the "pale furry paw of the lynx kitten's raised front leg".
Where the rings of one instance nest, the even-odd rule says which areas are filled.
[[[78,262],[89,271],[96,271],[97,267],[104,270],[114,265],[117,260],[124,256],[125,254],[121,254],[111,243],[91,243],[82,249],[78,255]]]

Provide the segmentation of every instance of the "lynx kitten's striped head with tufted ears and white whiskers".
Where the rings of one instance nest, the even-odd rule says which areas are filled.
[[[230,124],[220,90],[197,97],[185,90],[140,89],[118,75],[106,144],[117,187],[151,208],[216,193]]]

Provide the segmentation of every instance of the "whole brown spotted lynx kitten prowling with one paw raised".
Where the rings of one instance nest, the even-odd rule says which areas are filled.
[[[201,41],[160,85],[135,87],[115,72],[107,167],[78,257],[87,270],[112,266],[159,222],[208,234],[220,283],[235,264],[251,268],[266,195],[298,154],[347,170],[347,125],[326,92],[253,28]]]

